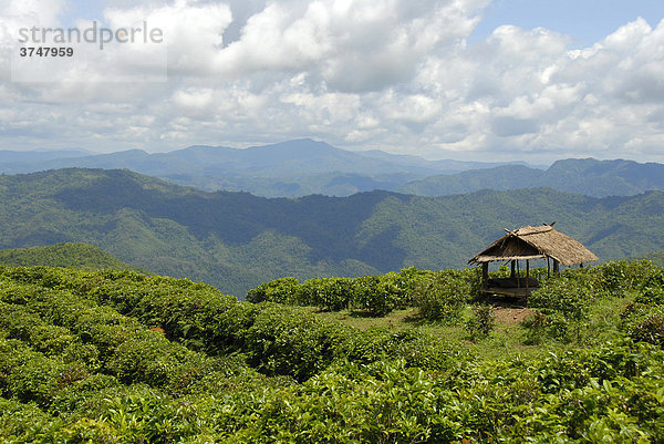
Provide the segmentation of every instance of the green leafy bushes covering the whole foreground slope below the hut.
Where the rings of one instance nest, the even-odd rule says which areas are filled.
[[[405,278],[442,304],[480,303],[439,322],[492,343],[490,306],[426,290],[440,277],[465,288],[471,271],[398,275],[375,278],[396,292]],[[325,300],[334,287],[319,283]],[[663,303],[664,271],[650,262],[568,270],[509,333],[529,358],[506,348],[495,360],[468,340],[357,330],[189,280],[0,266],[0,440],[662,442]]]

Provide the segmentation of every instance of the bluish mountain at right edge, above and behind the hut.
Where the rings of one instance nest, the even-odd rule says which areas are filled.
[[[422,196],[471,193],[479,189],[551,187],[587,196],[630,196],[664,190],[664,165],[632,161],[563,159],[541,171],[523,165],[467,171],[414,180],[400,192]]]

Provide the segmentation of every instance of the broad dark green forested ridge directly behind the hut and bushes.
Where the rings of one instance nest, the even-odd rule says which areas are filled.
[[[463,267],[504,228],[557,220],[602,259],[664,249],[664,194],[547,188],[297,199],[204,193],[128,171],[0,176],[0,248],[83,241],[159,275],[243,296],[281,276]]]

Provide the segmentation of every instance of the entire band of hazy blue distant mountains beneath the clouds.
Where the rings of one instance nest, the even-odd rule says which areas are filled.
[[[427,161],[376,149],[350,152],[308,138],[243,149],[197,145],[154,154],[139,149],[112,154],[0,151],[0,173],[65,167],[127,168],[208,192],[242,190],[263,197],[350,196],[374,189],[443,196],[551,187],[593,197],[664,190],[664,165],[655,163],[585,158],[533,167],[525,163]]]

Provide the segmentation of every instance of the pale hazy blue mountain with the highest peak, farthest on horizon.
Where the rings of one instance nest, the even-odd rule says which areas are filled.
[[[170,153],[131,149],[96,155],[41,155],[3,159],[0,172],[31,173],[65,167],[127,168],[205,190],[245,190],[267,197],[309,194],[347,196],[373,189],[394,190],[406,183],[442,173],[492,167],[495,163],[430,162],[380,151],[349,152],[324,142],[289,141],[246,149],[190,146]]]

